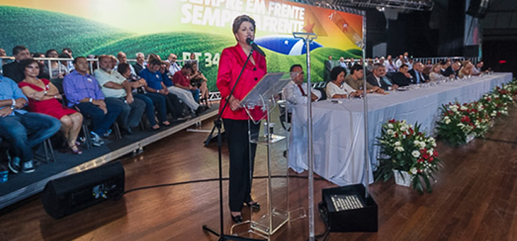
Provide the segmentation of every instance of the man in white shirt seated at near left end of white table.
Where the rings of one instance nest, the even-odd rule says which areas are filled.
[[[303,69],[301,65],[292,65],[291,79],[283,89],[283,96],[287,101],[287,112],[292,112],[293,105],[305,105],[307,103],[307,83],[303,83]],[[321,98],[319,90],[312,89],[311,100],[318,101]]]

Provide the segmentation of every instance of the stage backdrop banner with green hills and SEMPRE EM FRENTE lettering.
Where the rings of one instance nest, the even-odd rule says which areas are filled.
[[[25,45],[30,52],[61,52],[66,47],[74,56],[123,51],[128,59],[137,52],[159,54],[163,60],[170,53],[179,59],[194,53],[212,91],[221,52],[236,44],[232,21],[240,14],[256,21],[255,41],[267,54],[270,72],[287,72],[294,63],[304,65],[305,45],[292,32],[318,35],[310,45],[313,81],[323,81],[329,55],[361,56],[356,46],[363,36],[361,15],[292,1],[3,0],[0,4],[0,48],[8,55],[14,45]]]

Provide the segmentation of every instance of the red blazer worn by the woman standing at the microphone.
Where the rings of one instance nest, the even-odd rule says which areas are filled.
[[[247,55],[244,53],[241,45],[237,45],[225,48],[219,59],[219,71],[217,72],[217,88],[221,92],[221,105],[219,105],[219,113],[223,109],[226,103],[226,98],[230,95],[232,87],[241,72],[241,69],[246,61]],[[252,61],[247,61],[247,65],[243,71],[241,79],[234,90],[233,96],[242,100],[248,92],[250,92],[256,83],[267,74],[267,66],[265,63],[265,57],[257,52],[253,52],[252,58],[256,65],[253,65]],[[246,111],[241,108],[236,111],[232,111],[230,106],[227,106],[223,113],[223,118],[232,120],[247,120],[248,116]]]

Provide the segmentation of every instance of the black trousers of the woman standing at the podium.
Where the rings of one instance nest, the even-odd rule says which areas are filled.
[[[230,151],[230,211],[241,211],[244,202],[252,201],[251,176],[255,165],[256,144],[249,141],[247,121],[223,119],[223,123]],[[252,135],[258,134],[260,128],[260,123],[254,125],[250,122]]]

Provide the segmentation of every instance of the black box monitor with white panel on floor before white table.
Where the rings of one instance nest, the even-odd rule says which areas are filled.
[[[372,196],[365,198],[361,184],[323,189],[323,209],[331,232],[376,232],[378,207]]]

